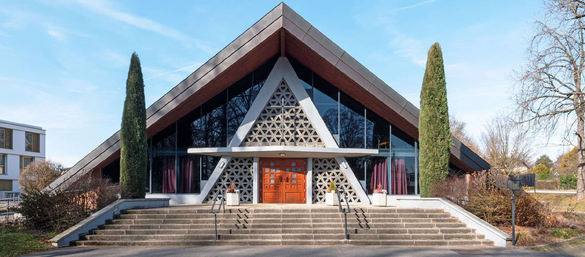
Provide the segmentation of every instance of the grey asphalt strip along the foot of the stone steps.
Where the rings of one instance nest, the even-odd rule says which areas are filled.
[[[466,250],[467,254],[453,250]],[[479,250],[479,252],[477,251]],[[471,252],[470,252],[471,251]],[[473,252],[475,251],[475,252]],[[534,251],[529,249],[510,249],[499,247],[457,247],[457,246],[198,246],[198,247],[155,247],[155,246],[126,246],[126,247],[66,247],[27,256],[205,256],[205,257],[406,257],[406,256],[514,256],[514,257],[545,257],[567,256],[558,253]]]

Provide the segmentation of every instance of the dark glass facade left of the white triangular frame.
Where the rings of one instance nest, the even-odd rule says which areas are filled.
[[[275,61],[262,65],[150,138],[150,193],[201,192],[219,157],[187,154],[188,148],[226,147]]]

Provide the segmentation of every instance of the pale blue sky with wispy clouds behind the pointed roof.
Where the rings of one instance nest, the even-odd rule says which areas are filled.
[[[128,64],[150,106],[280,1],[0,1],[0,119],[47,130],[71,166],[120,127]],[[287,1],[418,106],[426,51],[441,43],[450,111],[479,138],[511,105],[539,1]],[[559,148],[539,149],[555,158]]]

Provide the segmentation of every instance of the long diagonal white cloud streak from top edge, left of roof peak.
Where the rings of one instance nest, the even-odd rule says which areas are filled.
[[[115,10],[108,6],[108,4],[106,4],[106,2],[104,1],[77,0],[77,2],[91,9],[94,12],[118,20],[119,22],[135,26],[139,29],[149,30],[154,33],[161,34],[170,39],[185,41],[186,43],[192,43],[195,44],[195,46],[201,48],[202,50],[207,51],[208,53],[214,53],[214,50],[211,47],[204,44],[201,40],[194,39],[190,36],[187,36],[179,32],[176,29],[173,29],[172,27],[164,26],[154,20],[142,18],[131,13]]]

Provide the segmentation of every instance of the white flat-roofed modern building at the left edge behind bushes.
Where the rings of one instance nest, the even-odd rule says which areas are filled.
[[[18,196],[20,171],[44,159],[42,127],[0,120],[0,199]]]

